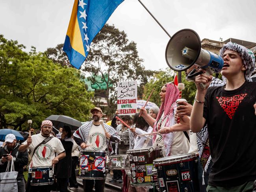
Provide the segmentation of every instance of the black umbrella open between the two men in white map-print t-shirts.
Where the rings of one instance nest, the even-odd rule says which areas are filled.
[[[82,126],[80,121],[65,115],[52,114],[45,120],[50,120],[52,124],[57,128],[67,125],[70,126],[71,130],[76,130],[78,127]]]

